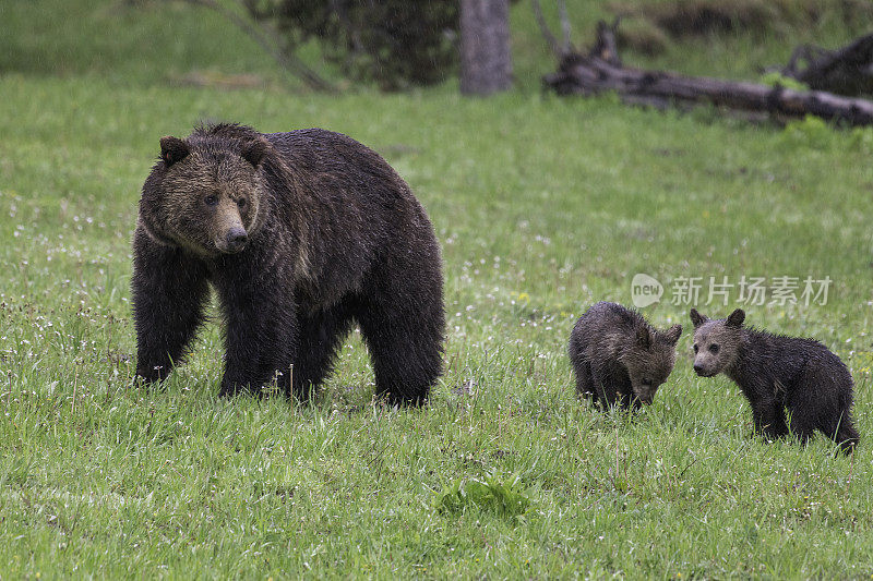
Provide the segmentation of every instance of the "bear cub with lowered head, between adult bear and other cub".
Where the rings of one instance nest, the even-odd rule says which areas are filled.
[[[588,308],[570,335],[576,391],[606,410],[651,403],[675,362],[682,326],[651,327],[639,313],[615,303]]]

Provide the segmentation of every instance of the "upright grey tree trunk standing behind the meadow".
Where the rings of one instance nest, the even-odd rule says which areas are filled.
[[[510,0],[461,0],[461,92],[490,95],[511,86]]]

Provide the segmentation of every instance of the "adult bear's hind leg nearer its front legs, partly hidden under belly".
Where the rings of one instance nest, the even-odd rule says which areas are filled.
[[[346,304],[316,314],[301,315],[297,358],[291,370],[291,394],[307,401],[313,389],[331,374],[336,350],[348,335],[351,314]],[[284,385],[288,391],[287,380]]]

